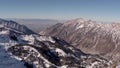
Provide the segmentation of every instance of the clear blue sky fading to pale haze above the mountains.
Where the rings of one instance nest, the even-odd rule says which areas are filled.
[[[120,0],[0,0],[0,18],[120,21]]]

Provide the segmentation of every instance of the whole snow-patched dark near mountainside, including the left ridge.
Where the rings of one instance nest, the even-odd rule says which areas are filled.
[[[1,19],[0,26],[0,68],[113,67],[112,61],[83,53],[60,38],[17,29],[23,26],[16,22]]]

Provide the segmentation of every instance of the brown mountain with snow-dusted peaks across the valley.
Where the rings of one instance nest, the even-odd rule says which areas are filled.
[[[120,23],[98,23],[77,18],[58,23],[40,34],[59,37],[85,53],[99,54],[119,62]]]

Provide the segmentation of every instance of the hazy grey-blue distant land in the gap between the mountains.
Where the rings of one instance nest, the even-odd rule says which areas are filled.
[[[57,24],[59,22],[63,22],[63,20],[54,20],[54,19],[10,19],[18,22],[19,24],[23,24],[33,30],[36,33]]]

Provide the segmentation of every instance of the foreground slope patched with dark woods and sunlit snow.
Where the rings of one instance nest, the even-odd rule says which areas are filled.
[[[9,47],[8,52],[30,67],[108,68],[112,64],[103,57],[85,54],[56,37],[22,35],[19,41],[22,43]]]

